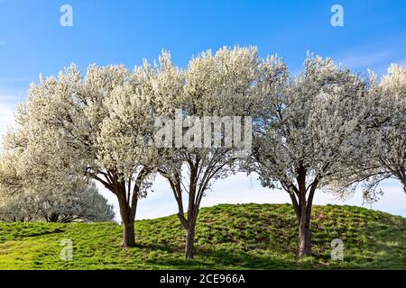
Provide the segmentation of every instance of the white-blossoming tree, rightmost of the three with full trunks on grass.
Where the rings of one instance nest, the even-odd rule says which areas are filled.
[[[299,255],[309,256],[313,197],[330,176],[346,175],[350,139],[360,121],[352,109],[365,84],[328,58],[308,55],[304,68],[293,78],[286,67],[277,77],[269,69],[271,80],[264,74],[250,160],[264,186],[289,193],[299,223]]]

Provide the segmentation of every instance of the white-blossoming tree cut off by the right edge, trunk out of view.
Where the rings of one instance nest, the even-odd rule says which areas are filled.
[[[363,185],[364,199],[374,202],[383,194],[379,184],[394,178],[406,193],[406,68],[392,64],[381,81],[370,73],[368,96],[358,112],[363,117],[355,143],[353,173],[337,181],[337,194],[354,193]]]

